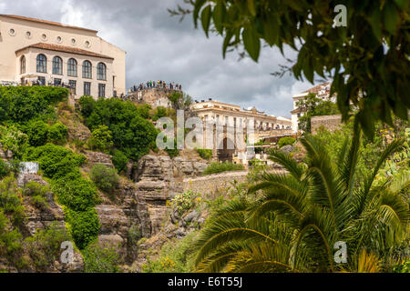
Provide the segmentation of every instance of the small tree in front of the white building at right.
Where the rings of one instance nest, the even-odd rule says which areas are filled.
[[[323,100],[311,93],[297,102],[298,108],[304,114],[299,118],[299,128],[305,132],[311,132],[311,118],[313,116],[335,115],[339,113],[337,105],[330,100]]]

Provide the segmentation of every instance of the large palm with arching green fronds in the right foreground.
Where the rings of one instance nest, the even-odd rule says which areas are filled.
[[[372,272],[408,239],[407,176],[374,186],[385,160],[403,141],[387,146],[369,176],[359,182],[360,129],[346,138],[336,161],[313,135],[301,139],[304,163],[281,151],[271,159],[286,174],[265,172],[250,187],[258,194],[231,201],[210,218],[196,247],[199,272]],[[336,242],[347,246],[347,263],[336,264]]]

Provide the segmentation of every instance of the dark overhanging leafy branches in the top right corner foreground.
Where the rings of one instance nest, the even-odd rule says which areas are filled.
[[[184,0],[190,7],[169,10],[192,13],[207,36],[223,38],[222,54],[244,50],[258,61],[261,47],[289,45],[297,60],[286,67],[298,80],[313,83],[315,75],[333,79],[331,95],[343,121],[359,108],[364,133],[372,136],[374,121],[392,125],[392,115],[408,120],[410,99],[409,1],[278,1]],[[334,25],[336,6],[344,5],[346,26]]]

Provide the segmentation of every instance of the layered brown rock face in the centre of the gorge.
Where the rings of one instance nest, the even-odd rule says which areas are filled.
[[[106,159],[95,158],[88,164],[103,161]],[[181,157],[142,157],[129,171],[132,181],[123,179],[114,198],[105,197],[96,206],[101,224],[99,245],[116,247],[125,262],[132,263],[138,256],[138,240],[158,234],[169,217],[167,200],[183,192],[183,177],[200,175],[206,166]]]

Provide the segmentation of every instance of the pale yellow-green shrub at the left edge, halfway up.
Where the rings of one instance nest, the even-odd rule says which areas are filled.
[[[0,135],[3,149],[12,151],[15,158],[21,158],[28,146],[28,136],[15,125],[0,126]]]

